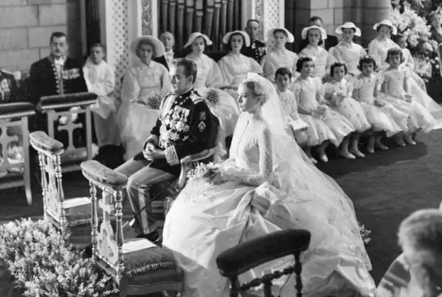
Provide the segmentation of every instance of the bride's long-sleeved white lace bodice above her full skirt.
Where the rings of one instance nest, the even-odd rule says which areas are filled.
[[[231,181],[260,185],[272,172],[270,132],[264,121],[243,112],[236,124],[224,175]]]

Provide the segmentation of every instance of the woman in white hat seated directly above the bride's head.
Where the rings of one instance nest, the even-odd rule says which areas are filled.
[[[218,61],[224,79],[224,90],[236,98],[238,85],[244,81],[247,73],[262,74],[262,67],[255,59],[241,54],[244,48],[250,46],[250,37],[246,32],[238,30],[229,32],[222,38],[222,42],[230,48],[229,54]]]

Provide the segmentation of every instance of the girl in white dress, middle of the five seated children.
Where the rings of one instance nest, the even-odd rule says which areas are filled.
[[[332,110],[345,116],[356,127],[356,132],[352,137],[352,147],[348,150],[349,139],[345,139],[340,155],[348,159],[354,159],[356,156],[363,158],[365,155],[358,148],[359,137],[372,125],[365,116],[361,103],[352,98],[353,85],[344,79],[345,74],[347,74],[345,63],[335,62],[332,64],[330,67],[332,80],[323,85],[324,99]]]

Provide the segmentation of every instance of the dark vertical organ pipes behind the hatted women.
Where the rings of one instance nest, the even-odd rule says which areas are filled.
[[[243,30],[242,0],[157,0],[160,32],[175,36],[180,51],[192,32],[202,32],[213,45],[209,51],[222,50],[222,37],[233,30]]]

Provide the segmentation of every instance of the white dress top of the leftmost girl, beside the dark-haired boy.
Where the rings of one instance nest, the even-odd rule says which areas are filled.
[[[320,81],[307,77],[307,79],[298,78],[291,85],[291,91],[294,92],[298,110],[311,114],[318,110],[318,92],[320,90]]]

